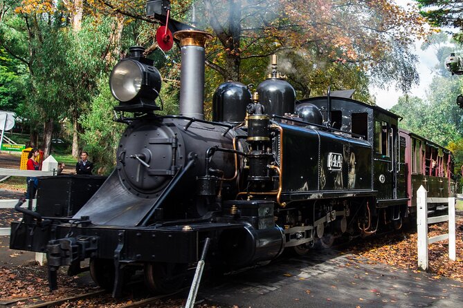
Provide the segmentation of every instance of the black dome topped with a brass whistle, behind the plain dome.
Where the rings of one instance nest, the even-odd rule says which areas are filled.
[[[277,71],[277,60],[277,56],[272,55],[272,73],[256,90],[259,93],[260,104],[264,105],[268,115],[283,116],[285,113],[294,113],[296,91]]]

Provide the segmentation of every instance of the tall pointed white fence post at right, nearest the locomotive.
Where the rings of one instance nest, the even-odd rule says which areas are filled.
[[[428,270],[428,192],[421,185],[417,191],[418,267]]]

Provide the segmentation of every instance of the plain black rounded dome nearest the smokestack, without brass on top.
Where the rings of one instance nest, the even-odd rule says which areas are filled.
[[[252,102],[251,91],[237,81],[226,81],[212,97],[212,121],[241,123],[246,117],[246,106]]]

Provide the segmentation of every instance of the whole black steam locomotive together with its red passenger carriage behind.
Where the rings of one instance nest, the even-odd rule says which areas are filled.
[[[164,24],[168,9],[165,0],[147,3]],[[399,229],[421,184],[429,196],[454,193],[450,151],[399,129],[399,116],[352,99],[352,90],[296,101],[276,56],[256,93],[221,84],[213,119],[204,119],[210,35],[168,22],[181,46],[180,115],[156,114],[161,76],[143,48],[131,48],[110,77],[116,120],[127,125],[114,171],[104,180],[60,177],[66,195],[88,195],[63,195],[66,211],[51,200],[58,177],[39,180],[36,211],[16,206],[24,218],[12,223],[10,248],[46,253],[51,289],[59,267],[75,274],[89,259],[93,280],[114,296],[137,269],[166,293],[181,286],[207,238],[212,267],[240,269],[343,234]]]

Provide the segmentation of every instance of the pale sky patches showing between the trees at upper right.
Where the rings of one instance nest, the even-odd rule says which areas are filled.
[[[400,6],[406,7],[410,0],[396,0]],[[438,64],[433,48],[421,50],[423,41],[415,42],[415,54],[418,56],[417,70],[419,73],[419,85],[413,86],[409,95],[417,96],[422,99],[426,98],[426,89],[433,79],[433,69]],[[376,97],[376,104],[381,108],[390,109],[397,104],[397,99],[403,95],[401,90],[397,90],[394,84],[390,84],[388,88],[379,89],[370,87],[370,93]]]

